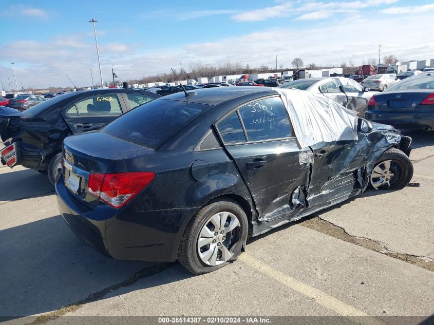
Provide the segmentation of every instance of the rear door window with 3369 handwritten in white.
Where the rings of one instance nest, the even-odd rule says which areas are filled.
[[[248,141],[291,137],[291,125],[279,97],[267,98],[239,108]]]

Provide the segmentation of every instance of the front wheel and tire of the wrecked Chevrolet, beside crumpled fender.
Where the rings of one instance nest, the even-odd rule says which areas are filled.
[[[412,177],[413,164],[410,158],[403,151],[390,148],[375,163],[369,182],[375,189],[402,189]]]

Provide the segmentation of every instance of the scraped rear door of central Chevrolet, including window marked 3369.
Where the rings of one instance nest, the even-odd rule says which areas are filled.
[[[254,198],[260,220],[296,211],[294,190],[307,185],[309,149],[300,150],[280,97],[255,100],[216,124],[225,149],[235,161]]]

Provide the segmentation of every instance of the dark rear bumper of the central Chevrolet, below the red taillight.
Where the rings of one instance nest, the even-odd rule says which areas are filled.
[[[89,209],[62,177],[55,188],[59,211],[71,230],[103,255],[119,260],[175,261],[185,228],[177,221],[194,214],[193,209],[135,212],[106,204]]]

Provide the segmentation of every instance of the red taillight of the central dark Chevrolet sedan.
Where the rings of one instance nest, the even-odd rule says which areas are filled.
[[[155,177],[154,173],[90,174],[87,192],[113,207],[121,207],[141,192]]]

